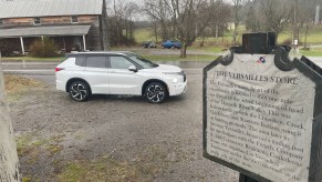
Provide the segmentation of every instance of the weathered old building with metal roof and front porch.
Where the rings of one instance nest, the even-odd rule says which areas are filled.
[[[0,46],[17,44],[24,54],[35,39],[49,37],[62,51],[102,50],[102,0],[0,2]]]

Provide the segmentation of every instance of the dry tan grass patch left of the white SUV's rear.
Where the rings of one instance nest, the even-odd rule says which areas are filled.
[[[29,90],[42,87],[40,81],[15,74],[4,74],[4,82],[9,102],[18,101]]]

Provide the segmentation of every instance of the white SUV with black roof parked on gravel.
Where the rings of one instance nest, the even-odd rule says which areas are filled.
[[[55,75],[56,89],[75,101],[91,94],[132,94],[159,103],[187,88],[180,68],[156,64],[132,52],[71,53],[55,68]]]

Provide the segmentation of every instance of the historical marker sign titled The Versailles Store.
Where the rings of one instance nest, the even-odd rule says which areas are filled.
[[[320,182],[322,78],[277,57],[232,53],[205,68],[205,156],[261,181]]]

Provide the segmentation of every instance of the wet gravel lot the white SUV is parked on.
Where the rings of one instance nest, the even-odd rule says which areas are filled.
[[[187,93],[162,104],[79,103],[52,83],[10,101],[23,181],[238,181],[202,156],[201,74],[187,78]]]

